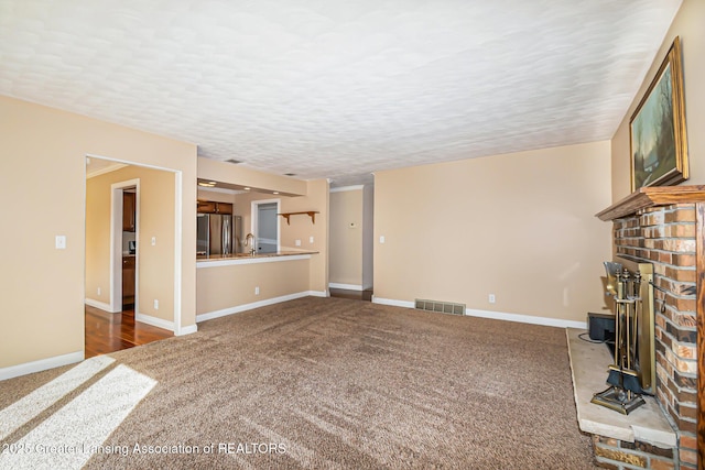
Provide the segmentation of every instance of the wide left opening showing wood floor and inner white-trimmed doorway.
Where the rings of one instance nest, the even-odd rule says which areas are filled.
[[[167,168],[87,161],[87,356],[180,331],[180,188],[181,173]]]

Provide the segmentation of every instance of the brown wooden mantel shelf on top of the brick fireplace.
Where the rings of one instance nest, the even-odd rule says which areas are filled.
[[[705,185],[642,187],[595,216],[615,220],[655,206],[705,201]]]

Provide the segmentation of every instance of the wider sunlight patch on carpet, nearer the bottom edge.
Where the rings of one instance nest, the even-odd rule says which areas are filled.
[[[102,442],[156,385],[156,381],[118,365],[15,442],[22,449],[0,456],[0,468],[82,468],[94,453],[120,449]]]

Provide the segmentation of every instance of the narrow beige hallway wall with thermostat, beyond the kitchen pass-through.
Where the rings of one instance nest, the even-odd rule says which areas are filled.
[[[330,192],[330,278],[362,286],[362,187]]]

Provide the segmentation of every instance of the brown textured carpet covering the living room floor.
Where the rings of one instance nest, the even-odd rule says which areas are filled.
[[[563,329],[314,297],[198,328],[110,354],[1,442],[29,439],[91,390],[129,401],[118,389],[137,371],[143,392],[105,413],[127,417],[86,468],[595,468]],[[70,369],[0,382],[0,407]]]

